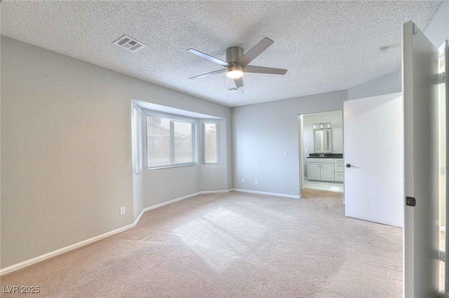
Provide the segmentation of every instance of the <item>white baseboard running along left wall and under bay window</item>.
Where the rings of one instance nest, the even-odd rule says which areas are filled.
[[[159,208],[159,207],[162,207],[162,206],[166,206],[168,204],[172,204],[172,203],[175,203],[177,201],[181,201],[183,199],[188,199],[190,197],[195,197],[195,196],[197,196],[199,194],[213,194],[213,193],[222,193],[222,192],[230,192],[230,191],[232,191],[232,190],[215,190],[215,191],[206,191],[206,192],[195,192],[194,194],[187,194],[187,196],[184,196],[184,197],[179,197],[177,199],[172,199],[170,201],[164,201],[161,204],[156,204],[156,205],[153,205],[153,206],[149,206],[147,208],[144,208],[140,212],[138,218],[136,218],[136,220],[132,224],[130,224],[130,225],[126,225],[125,227],[120,227],[119,229],[114,229],[113,231],[106,232],[105,234],[101,234],[101,235],[98,235],[98,236],[95,236],[95,237],[92,237],[92,238],[80,241],[78,243],[74,243],[72,245],[65,246],[64,248],[53,250],[50,253],[46,253],[44,255],[39,255],[39,257],[33,257],[32,259],[20,262],[18,264],[13,264],[13,265],[11,265],[9,267],[6,267],[4,269],[0,269],[0,276],[2,276],[4,274],[11,273],[13,271],[16,271],[16,270],[19,270],[19,269],[22,269],[22,268],[25,268],[25,267],[28,267],[28,266],[31,266],[32,264],[36,264],[36,263],[42,262],[43,260],[50,259],[51,257],[55,257],[57,255],[61,255],[62,253],[67,253],[70,250],[74,250],[76,248],[80,248],[81,246],[86,246],[86,245],[88,245],[90,243],[93,243],[95,241],[99,241],[101,239],[104,239],[106,237],[118,234],[120,232],[124,232],[127,229],[131,229],[131,228],[135,227],[138,224],[138,222],[139,222],[140,218],[142,217],[143,213],[145,213],[145,212],[147,212],[149,210],[153,210],[153,209],[156,209],[156,208]]]

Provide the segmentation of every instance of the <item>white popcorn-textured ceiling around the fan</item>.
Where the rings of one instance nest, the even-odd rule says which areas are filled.
[[[401,68],[401,26],[429,24],[441,1],[2,1],[1,34],[226,106],[348,89]],[[113,42],[127,34],[147,48]],[[285,76],[246,73],[227,94],[225,73],[187,48],[220,59],[264,37],[251,64]],[[393,45],[380,53],[382,46]],[[229,81],[229,87],[234,87]]]

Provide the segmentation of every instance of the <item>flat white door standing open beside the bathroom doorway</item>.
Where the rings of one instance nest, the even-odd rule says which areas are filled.
[[[346,216],[403,227],[401,93],[344,101],[343,115]]]

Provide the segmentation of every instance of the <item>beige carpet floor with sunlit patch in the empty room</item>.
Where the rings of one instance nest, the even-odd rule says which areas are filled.
[[[31,297],[401,297],[402,229],[345,218],[335,192],[205,194],[1,285],[39,285]]]

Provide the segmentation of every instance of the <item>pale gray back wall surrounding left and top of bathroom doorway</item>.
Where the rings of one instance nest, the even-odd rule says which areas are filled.
[[[345,99],[343,90],[233,108],[234,188],[299,195],[298,115],[341,111]]]

